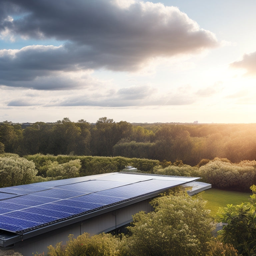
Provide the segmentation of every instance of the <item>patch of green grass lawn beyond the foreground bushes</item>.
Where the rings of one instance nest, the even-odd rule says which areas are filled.
[[[226,207],[227,204],[241,204],[248,201],[252,193],[220,190],[210,188],[202,194],[203,199],[207,200],[206,208],[211,210],[211,216],[217,213],[219,207]]]

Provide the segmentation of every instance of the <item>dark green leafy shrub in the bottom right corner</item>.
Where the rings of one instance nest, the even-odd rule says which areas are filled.
[[[217,213],[217,221],[227,223],[220,231],[225,243],[231,243],[242,255],[256,255],[256,186],[253,195],[240,205],[228,204]]]

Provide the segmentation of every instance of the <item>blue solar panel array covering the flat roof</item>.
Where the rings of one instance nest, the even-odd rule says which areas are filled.
[[[114,173],[0,188],[0,229],[24,233],[198,178]]]

